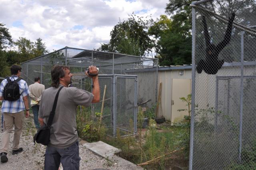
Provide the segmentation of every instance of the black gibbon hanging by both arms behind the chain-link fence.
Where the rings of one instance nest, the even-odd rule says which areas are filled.
[[[222,67],[224,60],[219,60],[218,55],[223,50],[223,48],[230,42],[231,32],[232,32],[232,24],[235,18],[235,13],[232,13],[231,17],[229,17],[228,26],[224,35],[224,39],[217,46],[211,43],[210,36],[205,20],[205,16],[203,16],[203,25],[204,25],[204,38],[206,43],[206,57],[204,60],[199,60],[196,70],[200,74],[202,70],[207,74],[216,74],[218,70]]]

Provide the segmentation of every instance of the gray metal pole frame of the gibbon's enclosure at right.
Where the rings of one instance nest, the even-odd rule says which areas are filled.
[[[196,90],[196,8],[194,5],[203,4],[206,2],[211,2],[213,0],[199,0],[193,1],[190,5],[192,7],[192,100],[191,100],[191,126],[190,126],[190,154],[189,154],[189,170],[192,170],[193,167],[193,154],[194,154],[194,124],[195,124],[195,90]],[[255,28],[256,26],[250,26],[248,28]],[[218,80],[231,78],[240,78],[240,122],[239,122],[239,147],[238,147],[238,162],[241,162],[242,154],[242,125],[243,125],[243,94],[244,94],[244,78],[251,78],[256,76],[245,76],[244,75],[244,66],[256,65],[255,62],[245,62],[244,61],[244,31],[241,31],[241,54],[240,62],[236,66],[240,67],[240,76],[216,76],[216,98],[215,98],[215,112],[217,113],[218,108]],[[223,65],[225,66],[225,65]],[[229,66],[226,64],[226,66]],[[234,65],[233,65],[234,66]],[[230,84],[228,84],[230,88]],[[217,126],[217,116],[215,120],[215,128]],[[196,168],[196,167],[195,167]],[[195,169],[194,168],[194,169]]]

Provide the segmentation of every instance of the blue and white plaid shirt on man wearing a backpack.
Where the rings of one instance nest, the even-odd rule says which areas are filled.
[[[18,76],[12,76],[15,80],[18,78]],[[10,77],[11,78],[11,77]],[[13,79],[12,79],[13,80]],[[4,86],[7,84],[7,80],[4,79],[1,82],[0,86],[0,96],[3,96],[4,92]],[[17,113],[22,110],[25,110],[24,102],[23,102],[23,97],[27,96],[29,94],[28,90],[28,84],[24,80],[18,81],[19,87],[20,87],[20,98],[15,101],[8,101],[8,100],[3,100],[2,103],[2,113],[8,112],[8,113]]]

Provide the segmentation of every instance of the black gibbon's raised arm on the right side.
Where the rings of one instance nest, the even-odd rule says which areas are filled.
[[[221,50],[223,50],[223,48],[228,45],[228,43],[230,42],[230,39],[231,39],[231,32],[232,32],[232,24],[233,24],[233,21],[234,21],[234,18],[235,18],[236,14],[235,13],[232,13],[231,17],[229,18],[229,21],[228,21],[228,26],[227,26],[227,29],[226,29],[226,32],[225,32],[225,35],[224,35],[224,39],[222,40],[222,42],[220,42],[218,45],[217,45],[217,50],[218,52],[220,52]]]

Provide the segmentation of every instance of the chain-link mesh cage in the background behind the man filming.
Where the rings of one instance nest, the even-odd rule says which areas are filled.
[[[154,58],[65,47],[21,66],[28,85],[34,83],[34,77],[40,77],[45,88],[49,88],[52,66],[67,65],[74,75],[72,86],[89,92],[92,82],[84,72],[91,65],[98,67],[101,101],[92,104],[91,113],[101,112],[103,108],[102,122],[107,134],[116,136],[118,131],[124,136],[136,133],[137,104],[150,100],[148,106],[151,107],[156,103],[157,62]]]

